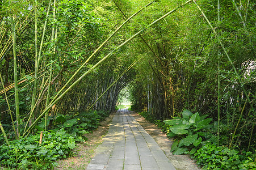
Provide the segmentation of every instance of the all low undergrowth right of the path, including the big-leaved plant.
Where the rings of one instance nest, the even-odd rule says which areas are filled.
[[[182,117],[160,121],[147,112],[139,114],[160,127],[168,138],[174,139],[170,152],[190,154],[203,169],[256,169],[252,152],[217,146],[216,129],[207,115],[200,116],[185,109]]]

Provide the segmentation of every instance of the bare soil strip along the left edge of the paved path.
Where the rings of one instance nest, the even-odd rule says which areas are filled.
[[[86,134],[85,136],[88,140],[83,143],[77,143],[77,147],[74,149],[75,156],[58,160],[58,165],[54,169],[85,169],[93,158],[95,149],[103,142],[102,138],[107,134],[114,115],[115,112],[111,113],[109,117],[100,122],[98,129],[94,130],[93,133]]]

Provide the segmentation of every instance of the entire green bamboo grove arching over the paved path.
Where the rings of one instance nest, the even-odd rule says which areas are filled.
[[[60,114],[114,111],[123,88],[157,119],[207,114],[255,150],[256,3],[1,1],[1,142]],[[221,136],[221,138],[220,138]]]

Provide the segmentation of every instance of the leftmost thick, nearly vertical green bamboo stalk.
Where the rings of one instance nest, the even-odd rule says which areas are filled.
[[[16,121],[17,121],[17,135],[20,137],[20,115],[19,115],[19,92],[18,92],[18,71],[17,71],[17,62],[16,62],[16,35],[15,35],[15,24],[14,16],[11,16],[12,23],[12,48],[13,48],[13,57],[14,57],[14,86],[15,86],[15,108],[16,108]]]

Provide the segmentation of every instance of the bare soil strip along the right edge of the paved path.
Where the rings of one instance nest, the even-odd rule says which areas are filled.
[[[200,168],[197,167],[194,160],[190,158],[189,155],[173,155],[171,150],[171,145],[173,145],[173,141],[166,137],[166,134],[161,131],[155,124],[145,120],[140,114],[136,112],[131,112],[133,117],[139,122],[139,124],[148,132],[150,136],[154,138],[154,140],[161,147],[163,152],[167,158],[173,163],[174,167],[177,170],[198,170]]]

